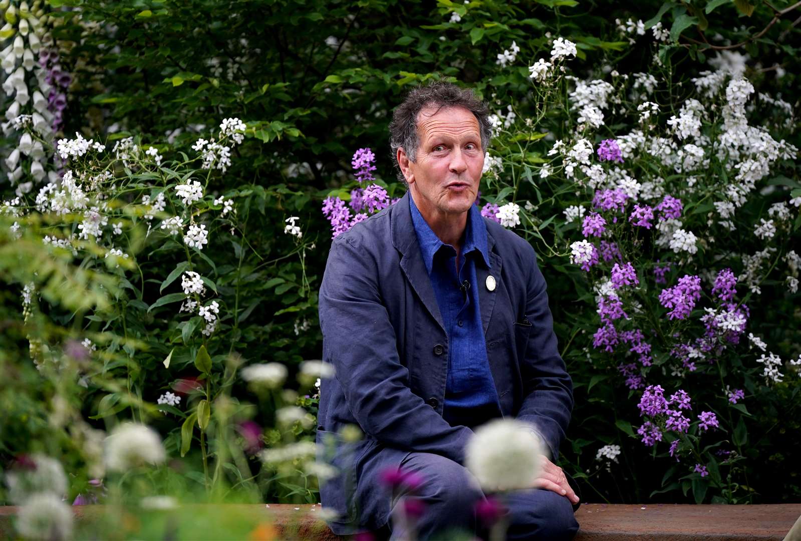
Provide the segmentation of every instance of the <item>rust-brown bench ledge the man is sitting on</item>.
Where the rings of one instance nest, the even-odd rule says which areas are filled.
[[[191,505],[197,512],[211,506]],[[219,506],[215,506],[219,507]],[[316,519],[321,507],[270,504],[227,505],[231,511],[264,516],[272,524],[252,539],[336,541],[325,523]],[[296,507],[298,509],[296,509]],[[644,507],[644,509],[643,509]],[[0,539],[14,539],[11,517],[18,507],[0,507]],[[103,506],[74,507],[78,521],[91,520]],[[219,510],[218,510],[219,511]],[[575,541],[780,541],[801,515],[801,503],[781,505],[606,505],[582,503],[576,511],[580,526]],[[256,532],[254,532],[256,533]],[[179,539],[180,533],[178,534]]]

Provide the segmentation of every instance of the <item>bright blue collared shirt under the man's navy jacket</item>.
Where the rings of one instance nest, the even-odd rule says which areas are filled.
[[[476,280],[477,264],[490,267],[487,226],[473,205],[468,212],[457,276],[456,249],[433,232],[411,196],[409,208],[448,334],[448,380],[442,416],[452,426],[477,426],[499,411],[478,305],[478,288],[485,285]]]

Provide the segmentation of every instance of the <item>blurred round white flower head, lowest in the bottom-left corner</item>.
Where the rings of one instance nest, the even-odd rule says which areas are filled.
[[[72,508],[52,492],[26,500],[17,515],[17,531],[26,539],[71,539]]]

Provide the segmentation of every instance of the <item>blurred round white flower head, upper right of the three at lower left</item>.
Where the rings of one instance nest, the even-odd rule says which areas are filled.
[[[106,438],[108,470],[125,472],[143,464],[160,464],[166,458],[159,434],[149,426],[124,422]]]

